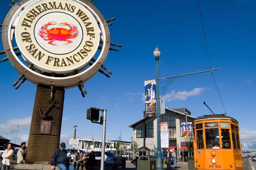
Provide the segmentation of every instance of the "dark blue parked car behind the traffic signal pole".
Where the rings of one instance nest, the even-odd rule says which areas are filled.
[[[94,151],[95,159],[101,160],[101,151]],[[86,157],[90,157],[91,152],[86,155]],[[105,152],[105,163],[109,166],[119,167],[122,166],[122,156],[116,156],[111,152]]]

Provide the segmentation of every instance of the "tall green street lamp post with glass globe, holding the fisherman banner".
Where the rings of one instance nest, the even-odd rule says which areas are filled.
[[[154,56],[156,59],[156,118],[157,118],[157,152],[156,152],[156,169],[163,169],[162,164],[162,152],[161,152],[161,136],[160,136],[160,95],[159,95],[159,70],[158,60],[160,56],[160,50],[156,47],[154,50]]]

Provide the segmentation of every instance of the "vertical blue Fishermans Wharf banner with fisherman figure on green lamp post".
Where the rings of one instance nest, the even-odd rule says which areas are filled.
[[[156,80],[144,81],[145,86],[145,115],[156,116]]]

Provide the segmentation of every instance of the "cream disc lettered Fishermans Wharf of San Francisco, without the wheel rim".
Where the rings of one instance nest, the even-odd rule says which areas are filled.
[[[93,15],[72,1],[43,2],[25,8],[18,20],[15,36],[23,57],[46,72],[88,65],[100,40]]]

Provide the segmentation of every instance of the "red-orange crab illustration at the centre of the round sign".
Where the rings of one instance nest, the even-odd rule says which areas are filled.
[[[52,21],[48,22],[47,24],[44,24],[40,29],[39,29],[39,35],[42,37],[45,41],[48,41],[48,44],[55,45],[53,44],[53,41],[58,40],[58,41],[67,41],[65,44],[72,43],[70,38],[75,38],[78,34],[78,31],[76,27],[73,24],[69,24],[67,22],[61,22],[59,23],[59,26],[68,26],[70,29],[66,28],[61,28],[61,27],[56,27],[56,28],[51,28],[47,29],[49,25],[55,25],[57,22]]]

